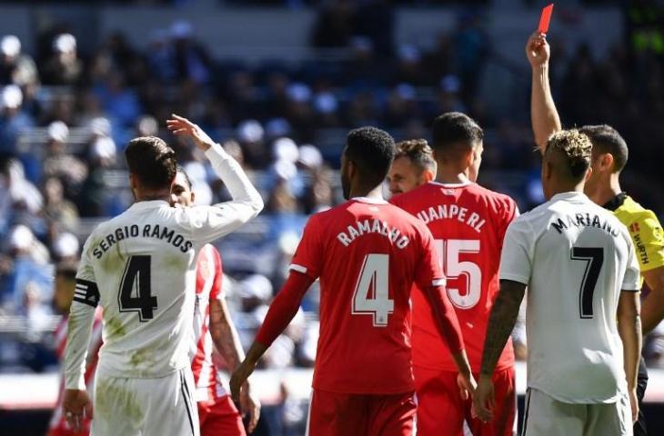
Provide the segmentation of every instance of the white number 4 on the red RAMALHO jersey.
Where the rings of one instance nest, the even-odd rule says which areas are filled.
[[[353,293],[353,314],[374,316],[375,327],[386,327],[387,316],[394,312],[389,299],[389,255],[367,254]]]

